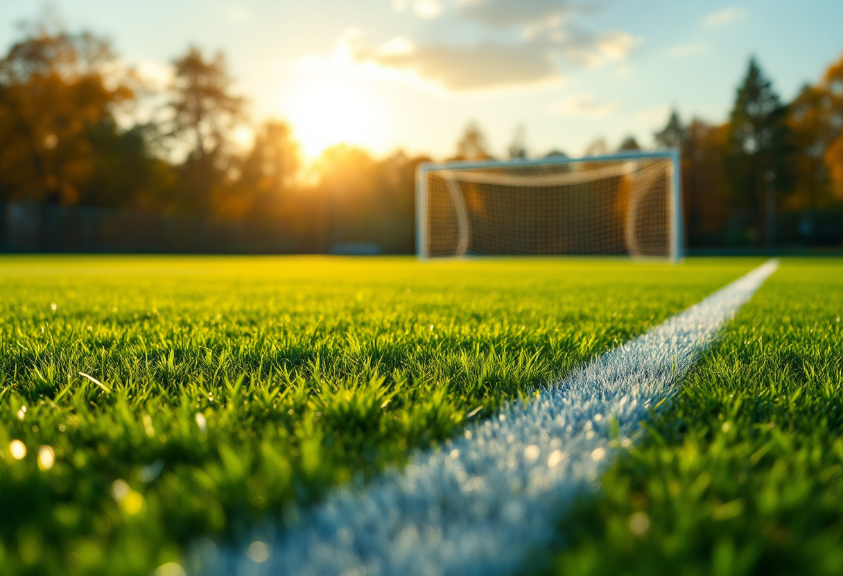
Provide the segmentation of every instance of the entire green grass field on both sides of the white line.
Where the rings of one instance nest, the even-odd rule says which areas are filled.
[[[4,257],[0,572],[148,574],[283,525],[759,263]],[[839,567],[841,272],[786,261],[542,566]]]

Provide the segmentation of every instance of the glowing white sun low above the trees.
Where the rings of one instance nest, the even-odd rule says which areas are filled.
[[[379,100],[362,78],[330,67],[294,78],[281,108],[305,156],[315,158],[341,142],[379,149],[384,129]]]

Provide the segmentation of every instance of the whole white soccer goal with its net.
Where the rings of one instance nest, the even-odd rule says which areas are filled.
[[[679,153],[423,163],[421,258],[616,254],[679,259]]]

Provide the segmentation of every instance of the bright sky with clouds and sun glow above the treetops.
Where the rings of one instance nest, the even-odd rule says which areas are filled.
[[[164,85],[190,45],[223,51],[255,121],[332,144],[447,157],[475,121],[503,156],[652,145],[676,108],[728,117],[749,57],[785,100],[843,54],[843,0],[56,0]],[[0,0],[0,48],[44,5]],[[244,144],[249,132],[241,131]]]

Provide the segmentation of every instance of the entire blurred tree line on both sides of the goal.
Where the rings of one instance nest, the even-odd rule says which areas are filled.
[[[413,178],[426,157],[347,145],[303,170],[291,127],[252,125],[222,54],[191,47],[153,88],[89,32],[31,24],[0,60],[0,204],[88,205],[277,223],[303,245],[377,243],[411,252]],[[692,248],[843,243],[843,57],[783,103],[754,59],[728,121],[654,135],[682,151]],[[620,150],[640,148],[627,137]],[[599,139],[588,154],[609,152]],[[549,155],[563,152],[553,151]],[[516,131],[510,157],[526,157]],[[470,123],[455,158],[492,157]]]

